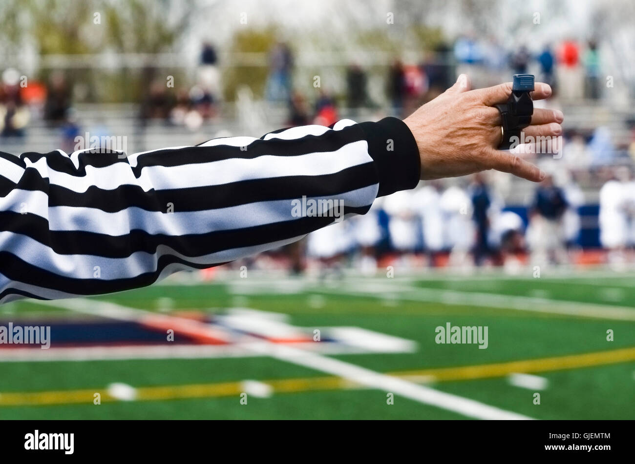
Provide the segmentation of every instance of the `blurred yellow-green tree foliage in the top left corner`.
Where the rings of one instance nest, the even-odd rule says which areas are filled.
[[[28,47],[40,56],[172,51],[196,12],[196,1],[3,0],[0,52],[20,61]],[[126,67],[104,74],[84,66],[73,70],[72,77],[83,81],[97,100],[138,100],[156,73],[156,63],[151,60],[144,67],[150,71],[141,75]]]

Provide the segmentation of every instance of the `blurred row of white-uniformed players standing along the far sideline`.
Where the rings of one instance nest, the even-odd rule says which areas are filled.
[[[312,233],[303,246],[309,266],[354,264],[363,273],[396,262],[402,269],[504,266],[510,273],[527,264],[619,268],[634,258],[635,180],[628,167],[609,172],[599,205],[585,204],[572,179],[556,184],[554,173],[536,186],[528,206],[506,205],[489,172],[449,186],[422,181],[415,190],[378,199],[364,216]],[[592,232],[583,237],[582,222],[589,218]]]

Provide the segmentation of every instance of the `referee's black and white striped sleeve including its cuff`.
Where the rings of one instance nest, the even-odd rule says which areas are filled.
[[[118,292],[279,247],[333,222],[293,214],[297,200],[364,214],[419,171],[395,118],[128,157],[0,152],[0,303]]]

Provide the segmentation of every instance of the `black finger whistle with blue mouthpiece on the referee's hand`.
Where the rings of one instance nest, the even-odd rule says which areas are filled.
[[[533,91],[533,79],[533,74],[514,74],[512,93],[507,103],[496,105],[503,127],[498,150],[509,150],[519,145],[521,131],[531,124],[533,100],[530,92]]]

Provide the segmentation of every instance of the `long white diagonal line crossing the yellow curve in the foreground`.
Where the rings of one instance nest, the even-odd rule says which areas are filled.
[[[146,311],[135,308],[125,307],[108,302],[98,302],[95,300],[57,300],[54,302],[46,302],[50,306],[64,307],[72,311],[81,311],[83,313],[98,314],[100,316],[123,319],[126,321],[137,320],[147,317]],[[179,324],[183,320],[177,316],[164,316],[174,319],[174,323]],[[197,325],[200,332],[213,330],[208,324],[199,321],[190,321],[190,326]],[[262,339],[255,339],[253,343],[244,344],[254,353],[271,356],[272,358],[287,361],[312,368],[331,375],[351,380],[358,385],[364,385],[371,389],[384,390],[385,392],[394,393],[418,403],[429,404],[441,409],[453,411],[460,415],[477,419],[502,419],[502,420],[527,420],[528,416],[505,411],[504,409],[489,406],[472,399],[453,395],[450,393],[440,392],[424,385],[408,382],[401,378],[392,377],[378,373],[376,371],[357,366],[356,364],[346,363],[339,359],[328,358],[321,354],[308,352],[305,350],[286,347],[280,344],[274,344]]]

